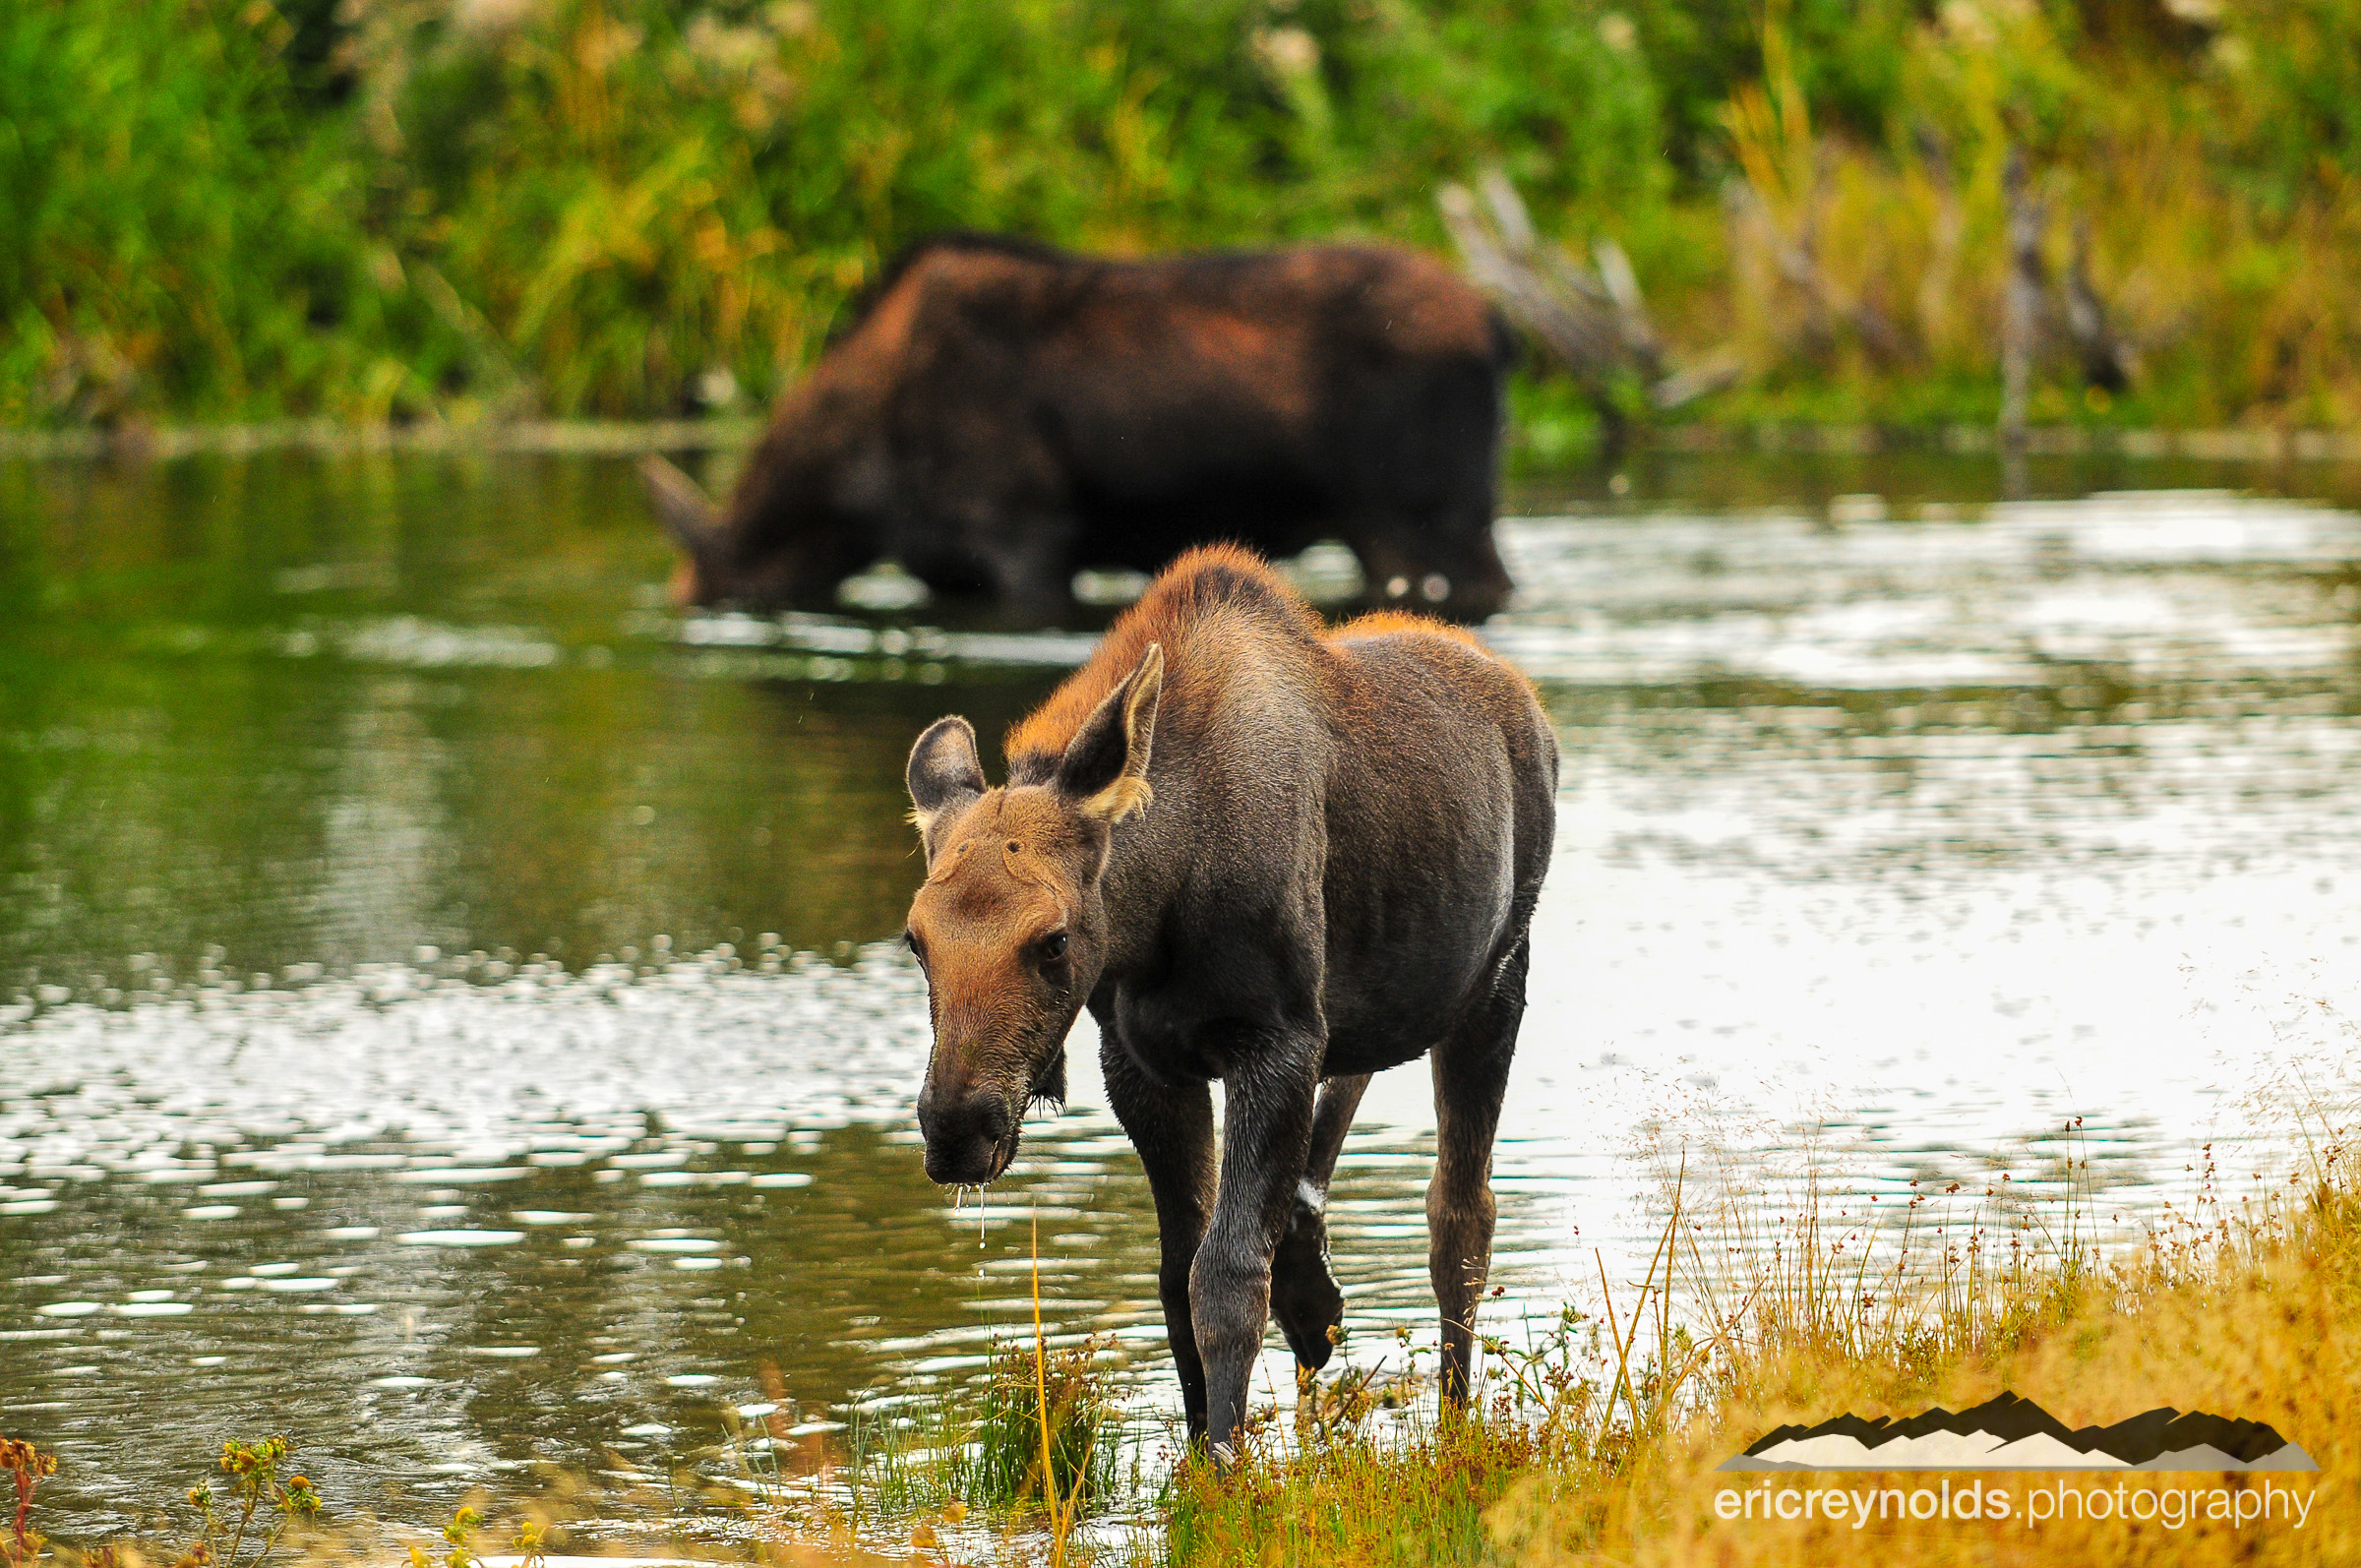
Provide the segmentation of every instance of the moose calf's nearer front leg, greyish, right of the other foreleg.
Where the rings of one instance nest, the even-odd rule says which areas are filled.
[[[1223,1464],[1240,1452],[1247,1384],[1270,1318],[1270,1259],[1310,1148],[1320,1091],[1317,1039],[1284,1039],[1242,1053],[1223,1079],[1221,1190],[1190,1266],[1190,1320],[1204,1358],[1206,1436]]]

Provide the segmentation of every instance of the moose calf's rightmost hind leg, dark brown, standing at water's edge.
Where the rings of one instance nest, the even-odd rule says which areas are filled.
[[[1530,937],[1520,935],[1492,980],[1435,1046],[1435,1178],[1426,1188],[1426,1273],[1443,1308],[1443,1403],[1469,1396],[1476,1304],[1492,1270],[1492,1133],[1509,1093],[1509,1058],[1525,1015]]]

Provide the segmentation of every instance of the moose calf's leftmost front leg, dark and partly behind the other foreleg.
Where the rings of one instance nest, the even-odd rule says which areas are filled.
[[[1180,1407],[1192,1438],[1204,1436],[1204,1360],[1190,1315],[1190,1263],[1214,1209],[1214,1091],[1204,1084],[1166,1089],[1147,1079],[1100,1020],[1098,1063],[1107,1082],[1107,1105],[1124,1124],[1147,1167],[1147,1190],[1157,1202],[1157,1296],[1164,1301],[1164,1337],[1180,1374]]]

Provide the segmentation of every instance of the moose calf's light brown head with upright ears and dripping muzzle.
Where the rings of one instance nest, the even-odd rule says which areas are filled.
[[[994,1181],[1025,1110],[1065,1098],[1065,1034],[1107,961],[1100,876],[1117,824],[1150,805],[1162,692],[1164,649],[1150,642],[1039,784],[987,789],[963,718],[911,746],[926,883],[907,940],[935,1025],[918,1131],[940,1183]]]

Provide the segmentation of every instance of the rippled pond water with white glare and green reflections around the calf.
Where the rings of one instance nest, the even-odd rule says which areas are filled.
[[[1487,633],[1565,746],[1499,1322],[1650,1226],[1648,1138],[2038,1188],[2080,1115],[2141,1211],[2314,1065],[2293,997],[2361,1015],[2361,517],[1631,479],[1528,501]],[[262,1426],[399,1518],[661,1471],[765,1363],[822,1431],[1029,1322],[1034,1228],[1055,1332],[1164,1398],[1088,1072],[982,1211],[909,1148],[909,737],[1088,628],[675,621],[663,571],[604,460],[0,465],[0,1429],[61,1448],[59,1528]],[[1433,1311],[1424,1096],[1343,1159],[1355,1355]]]

